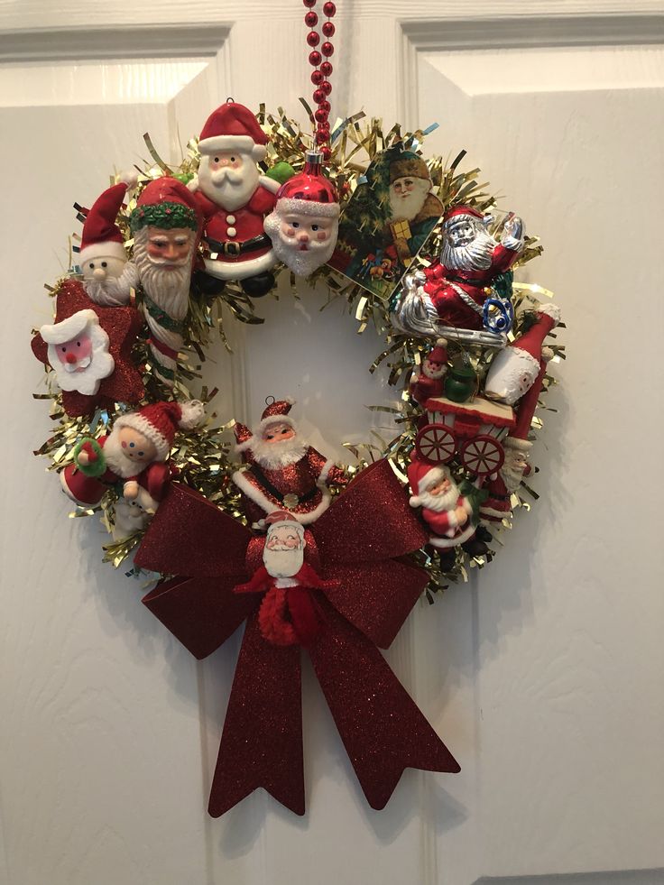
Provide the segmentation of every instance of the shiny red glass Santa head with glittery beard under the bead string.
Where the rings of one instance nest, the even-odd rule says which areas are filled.
[[[322,159],[320,152],[307,152],[304,170],[281,185],[264,221],[277,259],[300,277],[322,267],[337,244],[337,191],[323,174]]]

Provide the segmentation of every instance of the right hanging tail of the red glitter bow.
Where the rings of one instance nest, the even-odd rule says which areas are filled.
[[[369,805],[385,807],[404,769],[459,771],[374,643],[320,605],[326,626],[309,655]]]

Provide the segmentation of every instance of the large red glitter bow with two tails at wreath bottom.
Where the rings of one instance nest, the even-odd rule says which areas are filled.
[[[364,795],[383,808],[404,769],[459,770],[377,648],[391,644],[427,583],[406,558],[427,535],[391,467],[378,461],[305,538],[307,563],[320,577],[309,593],[321,622],[306,650]],[[135,557],[138,566],[180,575],[143,603],[197,658],[246,619],[210,794],[213,817],[259,787],[304,814],[300,647],[266,641],[263,597],[234,593],[262,565],[263,543],[174,485]]]

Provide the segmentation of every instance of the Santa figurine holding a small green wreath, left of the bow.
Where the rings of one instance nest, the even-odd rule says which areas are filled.
[[[115,420],[107,437],[83,439],[74,463],[60,473],[64,492],[86,507],[98,504],[108,488],[118,497],[156,510],[171,481],[166,463],[177,429],[192,429],[204,415],[198,400],[153,402]],[[147,493],[149,498],[146,496]]]

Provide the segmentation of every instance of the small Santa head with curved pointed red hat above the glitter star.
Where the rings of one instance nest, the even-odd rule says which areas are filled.
[[[129,186],[127,182],[115,184],[97,197],[81,235],[78,263],[83,286],[90,300],[106,308],[126,304],[138,282],[134,265],[127,261],[123,235],[115,224]]]

